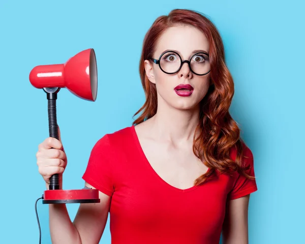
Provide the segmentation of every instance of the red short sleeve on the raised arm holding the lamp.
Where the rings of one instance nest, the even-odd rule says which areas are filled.
[[[112,196],[112,161],[107,134],[94,145],[82,178],[100,192]]]

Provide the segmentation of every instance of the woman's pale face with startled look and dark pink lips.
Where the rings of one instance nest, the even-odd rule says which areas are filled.
[[[159,38],[153,58],[159,59],[166,50],[176,51],[181,60],[190,60],[199,51],[209,53],[209,43],[199,29],[192,26],[175,26],[166,29]],[[206,59],[207,58],[207,59]],[[160,60],[161,67],[168,73],[179,67],[179,57],[175,53],[167,53]],[[194,72],[199,74],[209,66],[207,55],[198,54],[192,58]],[[176,109],[192,109],[204,98],[209,88],[209,73],[203,76],[194,74],[187,63],[175,74],[164,73],[158,64],[145,60],[145,71],[150,82],[156,84],[158,100],[161,99]],[[201,72],[202,73],[202,72]],[[200,73],[200,74],[201,74]],[[203,72],[205,73],[205,72]],[[192,87],[179,89],[180,84]],[[160,105],[160,101],[158,102]]]

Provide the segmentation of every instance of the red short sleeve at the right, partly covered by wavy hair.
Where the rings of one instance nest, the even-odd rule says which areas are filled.
[[[250,165],[250,169],[248,169],[246,173],[248,175],[255,176],[253,154],[252,151],[247,146],[244,147],[244,155],[247,158],[243,157],[242,160],[243,164],[245,166]],[[248,179],[246,176],[237,173],[237,176],[235,176],[233,188],[229,192],[228,199],[233,200],[236,198],[240,198],[255,191],[257,191],[256,180]]]

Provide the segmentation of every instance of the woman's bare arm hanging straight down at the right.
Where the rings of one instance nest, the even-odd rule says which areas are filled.
[[[248,206],[250,194],[227,203],[223,224],[223,244],[248,244]]]

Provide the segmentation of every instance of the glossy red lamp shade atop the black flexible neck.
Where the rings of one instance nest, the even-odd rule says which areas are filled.
[[[40,65],[29,73],[36,88],[67,88],[79,98],[95,101],[98,91],[98,72],[93,48],[83,50],[65,64]]]

